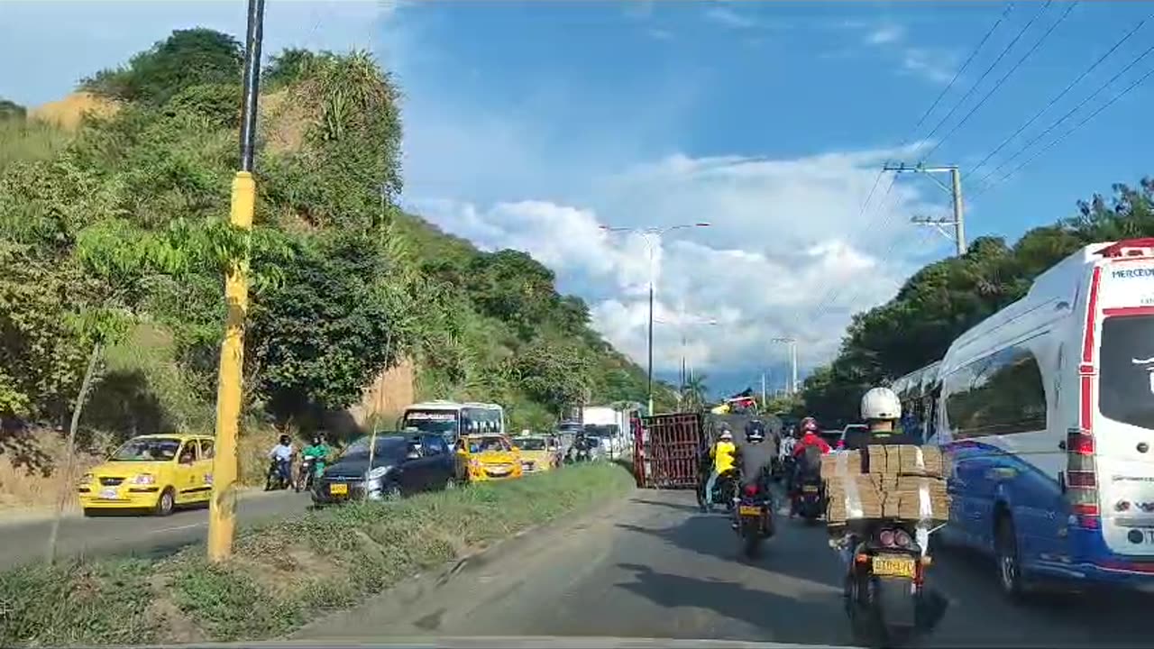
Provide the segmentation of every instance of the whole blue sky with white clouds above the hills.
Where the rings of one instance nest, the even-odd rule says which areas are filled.
[[[785,350],[772,343],[777,336],[801,338],[805,367],[829,359],[850,313],[890,298],[909,273],[952,251],[941,236],[906,223],[914,214],[947,212],[946,195],[928,178],[904,176],[885,193],[884,177],[862,212],[886,159],[916,162],[936,144],[928,162],[961,165],[964,191],[973,194],[971,239],[1016,238],[1071,215],[1080,197],[1149,172],[1139,127],[1154,84],[1144,84],[1007,181],[975,192],[1005,156],[1154,44],[1154,21],[971,176],[1149,16],[1148,2],[1014,3],[913,129],[1007,7],[269,0],[265,33],[267,52],[372,49],[405,94],[405,204],[482,247],[529,251],[557,273],[563,290],[585,297],[600,330],[638,359],[646,247],[638,237],[607,238],[598,225],[710,221],[710,229],[672,232],[652,248],[659,316],[669,323],[658,327],[655,356],[669,375],[684,330],[691,363],[729,389],[765,370],[771,385],[780,383]],[[28,104],[59,98],[77,77],[172,29],[242,33],[243,16],[240,1],[5,2],[0,55],[22,65],[0,75],[0,96]],[[1032,150],[1152,67],[1154,55],[1142,59]],[[684,324],[695,318],[719,323]]]

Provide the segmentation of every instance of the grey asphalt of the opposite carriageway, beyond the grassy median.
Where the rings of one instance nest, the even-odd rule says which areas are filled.
[[[306,493],[245,492],[237,506],[240,524],[252,524],[304,512],[312,501]],[[171,516],[113,515],[85,519],[68,516],[60,522],[59,555],[108,553],[166,554],[204,539],[208,507],[174,512]],[[51,520],[0,520],[0,568],[35,561],[44,555]]]

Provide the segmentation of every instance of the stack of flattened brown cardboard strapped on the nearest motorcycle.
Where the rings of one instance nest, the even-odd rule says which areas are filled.
[[[825,455],[826,524],[838,529],[870,519],[944,522],[950,500],[943,475],[942,452],[934,446],[869,446]]]

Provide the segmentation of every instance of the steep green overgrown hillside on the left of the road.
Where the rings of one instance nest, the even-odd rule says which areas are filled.
[[[402,363],[418,398],[501,403],[512,428],[583,400],[645,401],[643,371],[550,270],[398,208],[400,90],[367,53],[271,59],[255,231],[232,229],[240,67],[233,37],[181,30],[95,72],[44,119],[0,103],[0,455],[54,473],[54,458],[24,453],[27,432],[67,427],[93,356],[82,449],[210,430],[223,269],[242,247],[242,434],[355,434],[347,409]]]

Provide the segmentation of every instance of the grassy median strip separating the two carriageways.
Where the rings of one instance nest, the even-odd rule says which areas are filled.
[[[405,577],[632,488],[614,463],[395,503],[312,512],[242,531],[231,561],[164,559],[0,573],[0,646],[258,640],[355,605]]]

